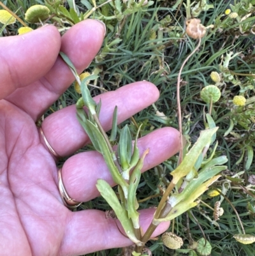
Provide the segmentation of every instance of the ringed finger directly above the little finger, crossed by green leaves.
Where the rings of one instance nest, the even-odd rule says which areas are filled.
[[[164,162],[179,150],[179,132],[173,128],[161,128],[138,140],[140,154],[149,148],[142,172]],[[62,180],[72,199],[86,202],[98,197],[98,179],[114,185],[103,156],[89,151],[71,156],[62,167]]]

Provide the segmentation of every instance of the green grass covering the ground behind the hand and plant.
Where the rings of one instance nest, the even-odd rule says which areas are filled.
[[[184,1],[186,2],[186,1]],[[208,1],[209,2],[209,1]],[[230,80],[225,80],[226,85],[220,86],[222,96],[219,102],[214,104],[212,117],[215,123],[219,126],[217,140],[216,155],[225,154],[228,157],[228,172],[222,174],[222,178],[215,184],[221,188],[224,181],[228,183],[228,191],[226,197],[231,201],[231,204],[237,209],[246,234],[255,234],[254,213],[249,213],[247,210],[248,202],[254,205],[254,191],[250,190],[249,195],[241,189],[246,187],[249,182],[247,179],[254,174],[254,160],[249,158],[247,149],[255,145],[254,132],[254,107],[252,102],[243,107],[234,107],[233,97],[239,94],[245,98],[254,96],[254,76],[237,75],[235,73],[252,74],[254,73],[254,34],[252,34],[251,26],[254,24],[255,1],[233,1],[233,10],[238,12],[240,17],[244,17],[248,13],[252,13],[250,17],[242,20],[230,19],[224,15],[224,11],[230,8],[230,2],[225,1],[210,1],[214,5],[214,9],[202,11],[198,16],[202,24],[209,26],[214,24],[214,29],[208,29],[208,32],[201,41],[201,47],[196,54],[187,62],[182,72],[182,79],[185,84],[181,87],[181,105],[183,113],[183,128],[184,133],[189,135],[192,142],[198,138],[200,130],[205,128],[203,121],[203,109],[207,110],[207,104],[200,98],[200,91],[208,84],[214,84],[210,79],[211,72],[221,73],[219,67],[222,56],[230,51],[240,52],[241,54],[230,61],[228,68],[233,72],[234,78],[240,82],[233,84]],[[251,2],[251,6],[245,3]],[[52,1],[3,1],[12,11],[17,11],[17,15],[24,20],[24,13],[33,4],[52,3]],[[103,1],[97,1],[101,4]],[[115,3],[120,3],[120,9],[126,10],[122,1],[115,0]],[[243,3],[243,5],[242,5]],[[69,11],[69,6],[73,6],[73,1],[62,3]],[[92,1],[75,1],[79,6],[79,10],[86,12],[92,7]],[[138,80],[149,80],[158,87],[161,92],[159,100],[156,102],[156,108],[160,112],[164,112],[165,116],[169,117],[167,121],[157,117],[153,107],[143,110],[134,116],[136,123],[143,124],[142,134],[148,133],[150,130],[156,130],[163,126],[173,126],[178,128],[177,120],[177,97],[176,84],[177,75],[180,66],[188,54],[196,47],[197,41],[188,38],[184,33],[184,24],[186,10],[183,5],[177,8],[172,8],[175,1],[155,1],[148,8],[140,8],[138,11],[131,11],[129,15],[115,17],[116,11],[113,4],[106,4],[91,14],[93,19],[101,19],[106,23],[107,33],[103,43],[101,52],[96,57],[96,61],[91,63],[89,70],[92,72],[95,68],[102,69],[100,73],[101,83],[103,87],[109,91],[117,89],[131,82]],[[242,6],[241,6],[242,5]],[[91,7],[90,7],[91,6]],[[178,6],[177,6],[178,7]],[[232,11],[232,12],[233,12]],[[52,22],[52,21],[49,21]],[[10,33],[17,33],[18,27],[21,25],[15,24],[8,26]],[[59,24],[59,26],[64,26]],[[159,27],[163,27],[163,31]],[[245,30],[245,33],[240,33],[240,26]],[[35,25],[32,26],[36,28]],[[255,31],[255,29],[254,29]],[[115,34],[119,33],[119,38],[115,38]],[[6,36],[3,31],[2,36]],[[164,75],[163,75],[164,73]],[[168,77],[168,79],[166,79]],[[99,81],[98,81],[99,82]],[[92,89],[92,95],[99,94],[98,89]],[[52,105],[52,109],[59,109],[60,105],[66,107],[75,103],[78,100],[78,94],[73,87],[70,87],[57,102]],[[224,133],[228,130],[230,119],[233,120],[234,126],[232,132],[224,137]],[[135,127],[131,121],[125,123],[130,124],[131,132],[135,135]],[[86,149],[82,149],[86,150]],[[252,149],[253,150],[253,149]],[[242,160],[237,164],[240,156],[244,154]],[[251,165],[247,168],[247,161]],[[173,156],[170,160],[163,163],[156,169],[161,169],[166,175],[166,179],[171,176],[168,174],[175,169],[177,165],[177,156]],[[158,186],[161,184],[159,172],[156,169],[149,170],[142,174],[142,180],[138,186],[138,200],[144,199],[150,195],[158,193]],[[238,175],[239,172],[244,173]],[[237,175],[235,178],[232,177]],[[253,187],[254,188],[254,187]],[[207,195],[203,195],[201,199],[210,206],[219,200],[219,196],[210,199]],[[140,204],[140,208],[155,206],[159,202],[159,198],[152,198]],[[94,199],[91,202],[84,203],[80,209],[94,209],[100,206],[100,209],[109,209],[108,204],[101,199]],[[187,214],[183,214],[175,219],[174,226],[171,225],[170,230],[174,230],[178,236],[184,239],[184,246],[180,250],[170,250],[163,246],[161,239],[157,241],[149,241],[148,246],[153,255],[187,255],[187,220],[189,222],[189,230],[194,241],[202,237],[201,230],[198,227],[200,223],[205,236],[210,245],[212,245],[212,256],[228,255],[242,256],[254,255],[255,246],[242,245],[233,239],[233,234],[240,233],[240,223],[237,220],[237,215],[227,200],[223,200],[221,207],[224,209],[224,215],[217,221],[219,227],[215,227],[210,223],[206,216],[212,218],[212,210],[208,209],[203,204],[191,209]],[[80,210],[78,209],[78,210]],[[191,215],[191,211],[196,220]],[[198,223],[197,223],[198,222]],[[77,230],[78,232],[78,230]],[[120,253],[120,249],[106,250],[103,252],[90,253],[89,255],[116,255]]]

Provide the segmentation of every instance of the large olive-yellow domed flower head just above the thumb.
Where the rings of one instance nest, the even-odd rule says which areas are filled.
[[[48,19],[49,13],[50,10],[47,6],[36,4],[27,9],[25,12],[25,20],[29,23],[38,23]]]

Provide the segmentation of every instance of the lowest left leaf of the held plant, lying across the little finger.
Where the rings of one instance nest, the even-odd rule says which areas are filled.
[[[98,188],[98,191],[101,193],[102,197],[108,202],[110,207],[112,207],[113,211],[115,212],[115,215],[120,221],[129,239],[133,241],[133,243],[135,243],[136,245],[142,246],[143,243],[140,240],[138,240],[135,236],[134,228],[131,223],[131,220],[129,220],[128,218],[127,212],[120,205],[119,199],[115,195],[115,192],[113,191],[111,186],[103,179],[98,179],[96,187]]]

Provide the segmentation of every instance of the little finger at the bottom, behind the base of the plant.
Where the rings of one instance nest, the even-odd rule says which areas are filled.
[[[155,209],[140,211],[140,223],[143,231],[148,229],[154,212]],[[166,231],[169,224],[169,222],[159,224],[152,237]],[[106,219],[105,213],[102,211],[86,210],[71,213],[60,254],[83,255],[99,250],[133,245],[128,237],[120,233],[119,226],[118,220]]]

